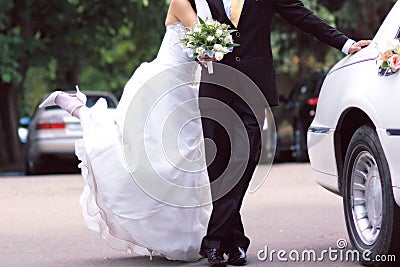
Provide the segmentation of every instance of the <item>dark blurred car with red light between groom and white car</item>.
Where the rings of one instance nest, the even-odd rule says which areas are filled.
[[[276,127],[275,161],[305,162],[309,160],[307,130],[314,119],[318,95],[325,77],[325,72],[316,72],[300,81],[284,85],[278,81],[280,105],[271,108]],[[292,89],[283,88],[288,86]],[[271,123],[269,125],[271,126]],[[264,127],[264,140],[266,137],[271,139],[271,129],[272,127]],[[270,143],[265,142],[266,145],[271,146]],[[268,155],[265,152],[267,148],[263,150],[262,155]],[[265,159],[261,160],[263,161],[265,162]]]

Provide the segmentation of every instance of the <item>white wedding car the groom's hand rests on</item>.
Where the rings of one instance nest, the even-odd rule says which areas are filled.
[[[400,71],[382,75],[377,61],[378,47],[399,38],[400,1],[371,45],[330,70],[307,133],[317,182],[343,197],[350,241],[371,265],[400,259]]]

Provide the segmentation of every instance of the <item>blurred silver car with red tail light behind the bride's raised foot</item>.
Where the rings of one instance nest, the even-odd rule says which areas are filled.
[[[88,107],[93,106],[99,98],[107,101],[110,110],[117,107],[117,99],[108,92],[84,93]],[[57,172],[68,165],[76,166],[75,142],[80,138],[82,128],[77,118],[58,106],[36,108],[26,138],[25,173],[42,174],[50,169],[51,172]]]

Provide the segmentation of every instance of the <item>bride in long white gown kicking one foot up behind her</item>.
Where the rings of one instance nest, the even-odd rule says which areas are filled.
[[[198,11],[204,5],[196,1]],[[114,249],[200,258],[211,203],[197,104],[200,71],[180,45],[197,21],[194,6],[171,1],[157,57],[135,71],[115,113],[104,99],[87,108],[78,88],[54,92],[40,106],[59,105],[80,119],[83,215]]]

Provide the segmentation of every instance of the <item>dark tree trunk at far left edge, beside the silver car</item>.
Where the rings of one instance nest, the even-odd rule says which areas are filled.
[[[19,88],[0,82],[0,170],[15,171],[23,166],[21,143],[18,137]]]

